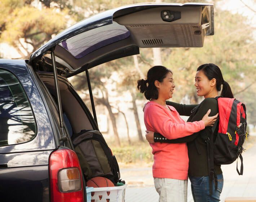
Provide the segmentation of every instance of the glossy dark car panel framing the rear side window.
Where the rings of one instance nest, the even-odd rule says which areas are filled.
[[[37,134],[28,142],[0,147],[0,153],[16,153],[25,151],[54,150],[56,143],[53,138],[53,129],[50,124],[45,104],[29,74],[24,60],[0,59],[0,68],[13,73],[26,92],[32,111],[34,113]]]

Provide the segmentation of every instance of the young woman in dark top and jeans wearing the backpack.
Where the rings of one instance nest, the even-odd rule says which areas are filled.
[[[221,91],[222,86],[222,91]],[[175,102],[167,101],[167,105],[175,107],[180,115],[190,116],[187,122],[202,119],[208,109],[211,109],[210,115],[218,113],[218,102],[216,97],[220,96],[233,98],[233,93],[229,84],[224,81],[220,68],[215,64],[203,64],[197,69],[195,75],[195,87],[198,96],[204,96],[204,100],[199,105],[182,105]],[[195,108],[194,108],[195,107]],[[191,108],[194,108],[191,111]],[[214,134],[218,132],[216,128]],[[184,138],[165,138],[164,133],[154,133],[147,131],[146,139],[150,143],[187,143],[189,155],[189,179],[191,181],[191,190],[195,202],[215,202],[220,201],[220,194],[223,188],[223,175],[220,165],[214,165],[215,174],[217,175],[218,185],[212,183],[212,194],[209,192],[209,176],[207,161],[207,144],[206,140],[211,135],[211,127],[206,127],[200,132]],[[161,135],[162,134],[162,135]]]

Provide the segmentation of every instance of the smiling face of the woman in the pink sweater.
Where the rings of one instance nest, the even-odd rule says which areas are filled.
[[[155,81],[155,86],[158,88],[158,97],[163,97],[165,100],[172,98],[173,90],[175,88],[172,73],[168,72],[163,79],[163,82]]]

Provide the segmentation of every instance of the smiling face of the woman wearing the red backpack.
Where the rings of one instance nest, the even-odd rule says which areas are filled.
[[[209,80],[204,74],[203,70],[199,70],[195,74],[195,87],[197,88],[197,95],[209,97],[213,91],[216,91],[216,79]]]

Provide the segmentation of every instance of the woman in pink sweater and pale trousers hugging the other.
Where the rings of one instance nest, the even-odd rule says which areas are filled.
[[[163,139],[189,136],[213,125],[217,118],[217,115],[209,117],[210,110],[207,110],[200,120],[185,123],[174,107],[167,106],[165,102],[172,98],[175,84],[171,70],[164,66],[149,69],[147,79],[139,80],[137,88],[150,101],[144,110],[147,130],[163,134]],[[187,144],[157,142],[150,146],[154,155],[153,177],[159,202],[186,202],[189,166]]]

